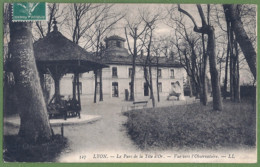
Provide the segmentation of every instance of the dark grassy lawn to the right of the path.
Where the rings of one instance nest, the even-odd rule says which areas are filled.
[[[129,136],[141,149],[255,146],[256,112],[250,101],[147,108],[126,112]]]

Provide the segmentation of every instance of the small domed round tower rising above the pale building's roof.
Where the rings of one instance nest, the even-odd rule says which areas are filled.
[[[125,39],[113,35],[104,39],[106,43],[106,55],[109,56],[129,56],[127,49],[125,48]]]

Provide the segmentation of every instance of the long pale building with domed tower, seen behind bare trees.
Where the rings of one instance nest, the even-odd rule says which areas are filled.
[[[130,83],[132,74],[132,56],[125,46],[125,39],[119,36],[111,36],[105,39],[106,49],[102,56],[103,63],[109,68],[102,69],[102,91],[104,100],[109,98],[125,99],[126,92],[130,94]],[[140,56],[136,59],[136,73],[134,92],[135,99],[148,99],[150,91],[144,77],[144,62]],[[158,70],[158,90],[157,90]],[[152,63],[153,90],[156,97],[159,91],[161,98],[167,98],[170,92],[181,92],[183,99],[183,85],[186,82],[186,72],[171,58],[159,57]],[[100,79],[97,80],[97,99],[99,96]],[[72,95],[73,75],[67,74],[61,79],[61,94]],[[94,72],[80,75],[80,93],[83,97],[93,98],[95,88]],[[51,88],[53,93],[53,86]],[[51,93],[51,94],[52,94]]]

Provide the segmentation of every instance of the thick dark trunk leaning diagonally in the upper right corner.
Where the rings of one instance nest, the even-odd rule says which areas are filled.
[[[250,38],[247,36],[237,7],[238,5],[223,5],[225,15],[231,21],[231,26],[236,35],[236,40],[244,53],[254,78],[256,79],[256,51]]]

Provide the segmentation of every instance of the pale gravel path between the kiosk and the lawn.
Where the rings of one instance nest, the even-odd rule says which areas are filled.
[[[64,136],[69,139],[69,148],[60,154],[57,161],[80,161],[79,156],[86,153],[137,152],[138,148],[123,126],[127,117],[121,113],[122,105],[125,102],[120,99],[96,104],[89,100],[83,105],[82,113],[101,115],[102,118],[91,124],[65,126]],[[60,133],[60,128],[54,128],[54,132]]]

